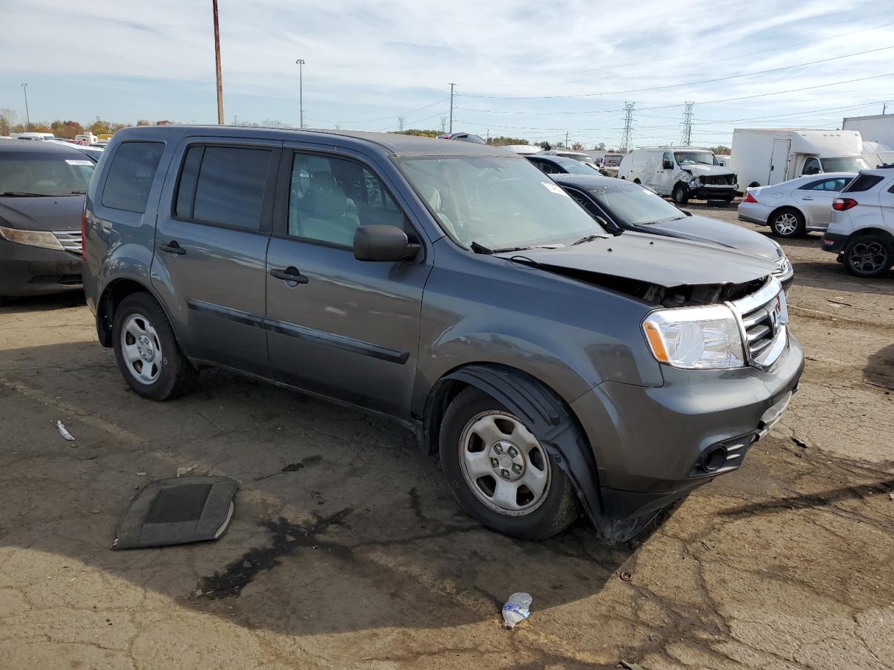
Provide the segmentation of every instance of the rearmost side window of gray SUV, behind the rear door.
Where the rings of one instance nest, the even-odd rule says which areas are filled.
[[[122,142],[109,166],[103,205],[143,214],[155,179],[163,142]]]

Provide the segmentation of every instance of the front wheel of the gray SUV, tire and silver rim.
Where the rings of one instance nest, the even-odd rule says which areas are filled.
[[[544,540],[577,518],[568,475],[517,417],[483,391],[468,388],[453,399],[440,444],[453,496],[487,528],[519,540]]]

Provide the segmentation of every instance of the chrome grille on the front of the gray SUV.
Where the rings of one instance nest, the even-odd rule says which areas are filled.
[[[771,279],[757,293],[730,306],[741,324],[748,363],[770,367],[789,344],[789,313],[779,281]]]

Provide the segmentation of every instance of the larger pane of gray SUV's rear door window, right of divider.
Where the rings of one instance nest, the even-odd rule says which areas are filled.
[[[258,230],[270,155],[268,149],[205,147],[191,218]]]

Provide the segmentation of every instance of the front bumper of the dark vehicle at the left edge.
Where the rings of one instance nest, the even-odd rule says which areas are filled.
[[[80,255],[0,239],[0,296],[81,289]]]

